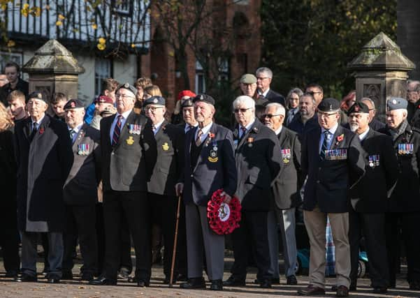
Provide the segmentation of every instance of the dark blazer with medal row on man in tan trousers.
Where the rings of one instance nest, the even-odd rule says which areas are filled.
[[[343,135],[339,141],[337,138]],[[314,128],[303,136],[302,174],[307,181],[303,195],[303,209],[313,210],[317,205],[322,212],[343,213],[349,211],[349,189],[365,174],[365,151],[359,137],[338,126],[330,149],[346,149],[340,160],[321,160],[319,140],[321,127]],[[345,158],[344,158],[345,157]]]

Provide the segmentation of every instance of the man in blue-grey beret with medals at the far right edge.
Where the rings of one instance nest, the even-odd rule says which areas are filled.
[[[410,289],[420,290],[420,130],[407,121],[407,100],[398,97],[386,100],[386,127],[379,132],[391,136],[399,166],[398,182],[386,213],[389,287],[396,285],[398,234],[401,228],[405,235],[407,281]]]

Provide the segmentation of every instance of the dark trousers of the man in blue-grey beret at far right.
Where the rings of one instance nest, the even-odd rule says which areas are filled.
[[[400,212],[386,214],[386,249],[388,250],[389,285],[396,284],[397,265],[399,264],[396,241],[399,228],[403,232],[405,255],[407,255],[407,281],[420,281],[420,212]],[[400,223],[400,225],[398,225]]]

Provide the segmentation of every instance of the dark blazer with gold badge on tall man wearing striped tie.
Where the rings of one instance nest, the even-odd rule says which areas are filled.
[[[104,191],[147,191],[147,170],[142,136],[129,132],[129,125],[141,126],[146,117],[131,111],[121,128],[120,139],[112,147],[110,128],[117,114],[101,119],[102,183]]]

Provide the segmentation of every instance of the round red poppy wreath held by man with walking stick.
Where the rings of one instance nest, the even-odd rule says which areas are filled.
[[[231,234],[233,230],[239,228],[240,222],[240,202],[233,196],[229,204],[223,202],[221,195],[222,189],[215,191],[207,204],[207,217],[210,228],[216,234]]]

